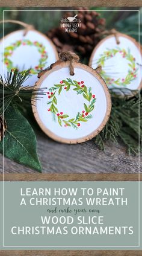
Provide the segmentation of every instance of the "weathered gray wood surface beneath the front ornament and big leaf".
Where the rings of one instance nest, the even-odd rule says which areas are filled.
[[[81,144],[61,144],[38,132],[37,147],[43,173],[138,173],[138,156],[129,156],[122,144],[107,142],[105,152],[93,140]],[[2,155],[0,155],[2,173]],[[4,173],[35,173],[4,158]]]

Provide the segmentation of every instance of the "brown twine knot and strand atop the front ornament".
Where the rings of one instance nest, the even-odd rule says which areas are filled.
[[[72,51],[64,51],[63,53],[59,54],[59,59],[62,62],[70,62],[70,75],[74,75],[74,66],[73,63],[74,62],[79,62],[79,56],[76,55],[75,53],[72,53]]]

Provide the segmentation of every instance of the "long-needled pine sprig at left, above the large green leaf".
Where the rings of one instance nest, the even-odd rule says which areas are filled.
[[[34,86],[23,86],[23,83],[30,77],[30,69],[19,72],[18,69],[8,72],[7,77],[0,76],[0,114],[5,112],[9,105],[29,106],[31,97],[33,102],[44,95],[44,89],[36,89]]]

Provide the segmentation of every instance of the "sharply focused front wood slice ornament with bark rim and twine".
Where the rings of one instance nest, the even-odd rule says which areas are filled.
[[[42,130],[60,142],[79,143],[103,129],[111,111],[108,88],[92,68],[64,52],[51,68],[40,72],[36,88],[47,88],[32,109]]]

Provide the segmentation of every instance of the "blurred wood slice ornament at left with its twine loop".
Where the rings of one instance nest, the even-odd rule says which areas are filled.
[[[25,30],[14,31],[0,41],[0,74],[7,71],[30,70],[30,77],[24,85],[34,85],[37,74],[58,59],[57,50],[48,37],[31,25],[19,21],[4,21],[23,25]],[[4,70],[3,70],[4,64]]]

